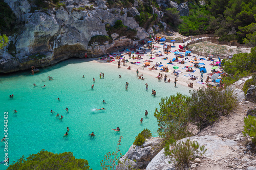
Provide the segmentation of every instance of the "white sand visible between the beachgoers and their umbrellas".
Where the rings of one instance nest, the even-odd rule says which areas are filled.
[[[171,45],[173,45],[173,43],[169,43],[169,42],[165,42],[165,44],[171,44]],[[162,55],[164,55],[164,57],[168,57],[168,59],[173,59],[173,58],[175,58],[176,56],[175,56],[175,54],[174,53],[169,53],[169,54],[164,54],[164,52],[163,52],[163,44],[160,44],[160,43],[153,43],[153,45],[155,45],[155,46],[160,46],[160,48],[158,48],[157,50],[154,50],[154,52],[159,52],[160,51],[160,53],[157,53],[157,54],[161,54],[162,53]],[[172,47],[172,51],[175,51],[175,50],[179,50],[179,45],[182,45],[183,46],[183,43],[175,43],[175,46],[176,47]],[[130,50],[130,49],[129,49]],[[154,76],[154,77],[157,77],[158,76],[158,74],[159,74],[159,72],[160,72],[160,74],[162,74],[163,75],[163,77],[164,77],[164,75],[167,75],[167,80],[168,79],[170,79],[171,80],[171,83],[173,83],[174,82],[174,79],[176,78],[178,81],[177,81],[177,85],[178,84],[181,84],[181,85],[184,85],[184,86],[187,86],[189,83],[193,83],[193,85],[194,85],[194,87],[193,87],[193,89],[199,89],[200,87],[204,87],[204,86],[206,86],[205,84],[199,84],[199,83],[197,83],[198,81],[201,81],[201,79],[200,79],[200,76],[201,76],[201,73],[200,73],[200,71],[199,71],[199,69],[198,68],[195,68],[195,67],[193,67],[193,70],[196,70],[195,72],[186,72],[186,69],[184,68],[184,66],[190,66],[190,65],[193,65],[194,66],[194,64],[193,63],[190,63],[189,61],[192,61],[192,60],[194,60],[194,54],[192,53],[191,54],[191,57],[188,57],[188,59],[189,60],[184,60],[185,59],[185,57],[184,58],[179,58],[179,60],[184,60],[185,61],[185,64],[178,64],[178,62],[173,62],[173,63],[175,63],[174,65],[172,65],[172,64],[167,64],[170,60],[163,60],[163,59],[161,59],[161,58],[164,58],[164,57],[156,57],[155,56],[155,54],[153,54],[153,58],[154,57],[156,57],[155,59],[150,59],[150,57],[151,57],[151,54],[150,54],[150,50],[146,50],[146,53],[147,54],[144,54],[144,56],[141,56],[143,59],[141,59],[141,60],[137,60],[137,59],[129,59],[129,56],[128,55],[124,55],[124,53],[127,53],[127,51],[125,50],[124,52],[121,52],[124,56],[123,57],[125,57],[125,59],[128,59],[128,63],[125,63],[125,66],[123,66],[123,63],[121,63],[121,69],[127,69],[129,66],[131,66],[131,70],[127,70],[127,71],[132,71],[133,73],[136,73],[136,70],[138,69],[139,70],[139,75],[141,75],[141,74],[148,74],[148,75],[151,75],[151,76]],[[120,52],[114,52],[115,54],[120,54]],[[137,57],[138,55],[136,55],[136,54],[132,54],[132,56],[135,56],[135,57]],[[184,54],[182,54],[183,56],[185,55],[185,53]],[[114,58],[116,58],[116,55],[113,55],[114,56]],[[195,55],[196,56],[196,55]],[[123,58],[123,57],[121,57],[121,58]],[[203,74],[203,82],[205,83],[205,81],[206,81],[206,78],[207,78],[207,74],[209,74],[209,73],[211,73],[211,65],[209,65],[210,63],[212,63],[212,62],[210,62],[210,61],[207,61],[207,59],[206,60],[199,60],[199,58],[205,58],[205,57],[202,57],[202,56],[196,56],[197,57],[197,61],[199,61],[200,63],[205,63],[205,65],[203,65],[205,68],[206,68],[206,70],[207,70],[207,73],[205,73],[205,74]],[[144,63],[145,62],[143,62],[143,61],[145,61],[145,60],[151,60],[151,61],[153,61],[153,62],[151,62],[151,65],[150,66],[148,66],[148,67],[142,67],[143,65],[144,65]],[[110,65],[113,65],[113,66],[115,66],[116,68],[118,67],[117,66],[117,61],[118,60],[116,60],[115,59],[115,61],[113,61],[113,62],[111,62],[111,63],[108,63],[108,62],[106,62],[106,60],[97,60],[97,62],[102,62],[102,63],[107,63],[107,64],[110,64]],[[121,61],[121,60],[120,60]],[[140,62],[141,64],[140,65],[137,65],[137,64],[131,64],[130,62],[136,62],[136,61],[138,61],[138,62]],[[218,59],[216,59],[215,61],[218,61]],[[168,66],[168,69],[169,69],[169,72],[163,72],[163,71],[160,71],[160,69],[161,69],[161,67],[157,67],[158,68],[158,70],[149,70],[148,68],[151,68],[153,65],[155,65],[156,63],[160,63],[160,62],[162,62],[162,65],[167,65]],[[181,71],[181,72],[179,72],[179,76],[178,77],[176,77],[176,76],[174,76],[174,74],[173,74],[173,71],[174,71],[174,68],[173,68],[173,66],[178,66],[179,68],[178,69],[176,69],[176,71]],[[200,67],[202,67],[202,66],[200,66]],[[182,69],[183,68],[183,69]],[[120,68],[117,68],[117,69],[120,69]],[[219,70],[219,69],[216,69],[216,70]],[[198,79],[197,80],[189,80],[189,77],[186,77],[186,76],[184,76],[184,75],[188,75],[188,74],[190,74],[190,75],[193,75],[193,76],[196,76]],[[210,77],[210,76],[209,76]],[[210,79],[211,80],[211,79]],[[156,81],[157,81],[157,79],[156,79]],[[162,81],[161,82],[164,82],[164,79],[162,79]],[[161,82],[159,82],[159,83],[161,83]],[[212,84],[212,85],[216,85],[215,83],[210,83],[210,84]]]

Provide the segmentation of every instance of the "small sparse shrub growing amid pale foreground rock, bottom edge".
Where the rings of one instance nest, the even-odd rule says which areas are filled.
[[[206,150],[204,145],[200,146],[197,141],[186,139],[182,142],[175,142],[173,149],[165,153],[175,159],[177,169],[186,169],[189,167],[189,161],[193,161],[196,158],[195,154],[203,155]]]

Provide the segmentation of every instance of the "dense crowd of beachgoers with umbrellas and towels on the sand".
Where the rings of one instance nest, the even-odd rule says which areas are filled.
[[[218,56],[196,56],[186,50],[186,42],[171,41],[151,37],[141,44],[106,54],[97,61],[150,74],[159,82],[162,79],[165,83],[174,82],[175,87],[176,82],[194,89],[203,86],[223,87],[222,76],[225,72]],[[144,80],[143,77],[139,79]]]

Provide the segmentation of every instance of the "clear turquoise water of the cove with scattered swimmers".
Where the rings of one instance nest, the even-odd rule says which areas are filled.
[[[120,147],[123,154],[144,128],[150,129],[153,136],[158,135],[153,114],[161,98],[189,91],[185,86],[174,88],[174,83],[158,82],[149,75],[144,75],[144,81],[138,80],[132,70],[84,61],[63,61],[41,68],[35,75],[26,71],[0,76],[0,137],[4,136],[4,112],[8,112],[10,163],[45,149],[53,153],[73,152],[76,158],[87,159],[93,169],[100,169],[100,160],[106,152],[115,151],[120,135],[123,136]],[[99,79],[100,72],[104,72],[104,79]],[[54,80],[49,81],[48,76]],[[92,90],[93,78],[95,87]],[[129,82],[127,91],[125,82]],[[148,83],[148,91],[145,83]],[[46,87],[42,88],[43,85]],[[152,89],[157,92],[155,98],[151,95]],[[14,95],[13,99],[9,98],[10,94]],[[106,110],[93,111],[102,107]],[[17,113],[12,112],[14,109]],[[56,118],[57,113],[63,115],[62,120]],[[142,125],[141,117],[144,119]],[[117,126],[120,132],[111,130]],[[69,135],[62,138],[67,127]],[[96,134],[94,138],[88,136],[91,132]],[[4,160],[4,143],[0,146],[0,159]],[[0,168],[6,169],[6,166],[1,164]]]

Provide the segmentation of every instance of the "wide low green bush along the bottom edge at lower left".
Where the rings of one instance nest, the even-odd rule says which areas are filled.
[[[85,159],[76,159],[72,152],[64,152],[54,154],[45,150],[41,150],[37,154],[32,154],[29,157],[25,156],[18,159],[7,168],[8,170],[18,169],[84,169],[92,170]]]

